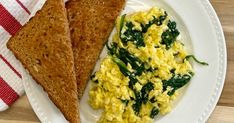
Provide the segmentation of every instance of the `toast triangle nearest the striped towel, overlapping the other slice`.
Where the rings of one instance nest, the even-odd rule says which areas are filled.
[[[79,123],[77,84],[63,0],[43,8],[7,43],[71,123]]]

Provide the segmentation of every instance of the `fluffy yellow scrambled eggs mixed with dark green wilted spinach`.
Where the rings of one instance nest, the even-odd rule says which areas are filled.
[[[193,76],[176,22],[163,9],[118,17],[107,49],[89,91],[90,106],[103,110],[99,123],[151,123],[171,111]]]

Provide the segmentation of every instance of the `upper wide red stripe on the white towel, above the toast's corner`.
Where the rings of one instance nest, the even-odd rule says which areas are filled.
[[[0,4],[0,25],[10,34],[15,35],[22,25]]]

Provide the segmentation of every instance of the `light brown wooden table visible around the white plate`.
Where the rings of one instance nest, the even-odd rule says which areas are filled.
[[[234,123],[234,1],[211,0],[224,29],[228,67],[221,98],[207,123]],[[0,123],[38,123],[26,96],[21,97],[10,109],[0,113]]]

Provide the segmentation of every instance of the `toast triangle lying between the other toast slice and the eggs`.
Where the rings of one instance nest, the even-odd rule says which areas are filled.
[[[69,0],[70,24],[79,99],[125,0]]]

